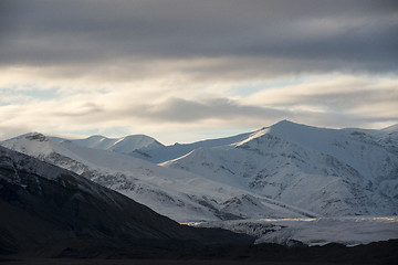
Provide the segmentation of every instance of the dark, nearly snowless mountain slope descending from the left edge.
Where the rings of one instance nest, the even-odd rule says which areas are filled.
[[[0,253],[67,250],[82,242],[245,242],[197,230],[65,169],[0,147]],[[61,248],[60,248],[61,247]],[[65,248],[66,247],[66,248]],[[55,250],[59,248],[59,250]]]

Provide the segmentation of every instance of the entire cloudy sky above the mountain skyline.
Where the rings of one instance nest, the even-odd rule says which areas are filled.
[[[0,140],[398,124],[396,0],[0,0]]]

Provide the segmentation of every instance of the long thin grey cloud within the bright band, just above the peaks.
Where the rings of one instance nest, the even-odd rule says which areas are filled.
[[[396,116],[369,117],[368,115],[353,115],[349,109],[338,108],[328,113],[287,110],[276,107],[261,107],[241,105],[238,102],[218,98],[210,100],[187,100],[181,98],[170,98],[158,105],[140,105],[125,109],[119,118],[135,118],[149,120],[160,124],[201,124],[206,121],[219,120],[223,124],[233,126],[251,126],[259,128],[269,126],[281,119],[291,119],[298,123],[318,125],[326,127],[364,127],[368,128],[374,123],[398,123]],[[109,117],[112,118],[112,117]]]

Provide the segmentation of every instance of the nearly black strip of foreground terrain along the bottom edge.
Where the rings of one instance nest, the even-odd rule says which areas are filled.
[[[354,247],[339,244],[285,247],[276,244],[198,245],[190,242],[76,243],[51,257],[49,253],[60,247],[56,244],[48,250],[2,255],[0,264],[398,264],[398,240]]]

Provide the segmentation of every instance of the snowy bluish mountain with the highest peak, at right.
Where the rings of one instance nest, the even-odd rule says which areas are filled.
[[[396,215],[397,140],[395,130],[336,130],[283,120],[163,166],[326,216]]]

